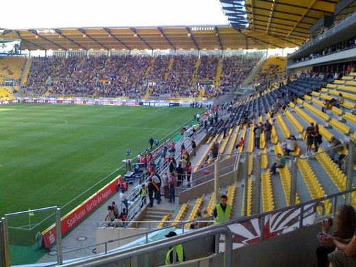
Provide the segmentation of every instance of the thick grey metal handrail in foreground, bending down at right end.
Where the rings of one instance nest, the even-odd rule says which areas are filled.
[[[188,233],[175,236],[173,238],[167,238],[166,240],[158,240],[149,244],[143,244],[141,246],[124,249],[123,251],[116,251],[110,254],[99,255],[98,257],[82,259],[79,261],[71,262],[69,264],[64,264],[63,266],[103,266],[106,264],[113,264],[123,259],[130,258],[134,258],[134,262],[136,262],[137,266],[139,255],[144,255],[162,249],[168,249],[169,247],[176,246],[177,244],[186,243],[196,239],[206,238],[207,236],[216,236],[220,234],[223,234],[225,236],[224,266],[233,266],[232,233],[229,227],[225,225],[212,225],[210,227],[206,227],[205,229],[190,231]],[[218,252],[216,251],[216,253]],[[173,255],[175,255],[174,252]],[[175,257],[173,257],[173,264],[175,262]]]

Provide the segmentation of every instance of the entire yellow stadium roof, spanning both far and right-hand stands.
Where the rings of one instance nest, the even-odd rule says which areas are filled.
[[[339,0],[220,0],[230,25],[5,29],[30,50],[275,49],[298,47]]]

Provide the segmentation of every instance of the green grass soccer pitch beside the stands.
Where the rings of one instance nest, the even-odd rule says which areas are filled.
[[[188,107],[1,106],[0,216],[51,205],[61,207],[63,216],[123,173],[117,169],[127,149],[136,157],[151,136],[175,136],[195,112]]]

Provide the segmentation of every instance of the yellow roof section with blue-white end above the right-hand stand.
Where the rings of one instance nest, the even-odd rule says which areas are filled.
[[[232,27],[249,29],[259,40],[265,36],[295,44],[309,38],[309,29],[319,18],[333,15],[339,0],[220,0]]]

